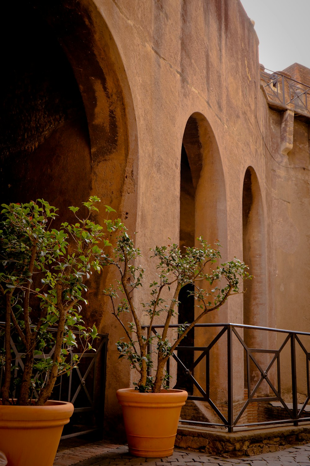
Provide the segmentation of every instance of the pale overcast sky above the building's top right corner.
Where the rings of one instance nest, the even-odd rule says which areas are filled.
[[[310,0],[241,0],[259,39],[259,62],[282,71],[297,62],[310,68]]]

